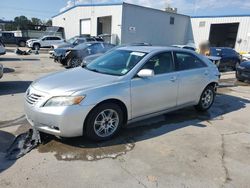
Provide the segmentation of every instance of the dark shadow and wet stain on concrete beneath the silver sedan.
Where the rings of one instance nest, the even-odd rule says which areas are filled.
[[[250,101],[219,94],[214,106],[206,113],[198,113],[194,108],[186,108],[169,114],[147,119],[123,128],[119,136],[110,141],[94,143],[86,138],[58,139],[43,135],[43,143],[38,147],[41,153],[52,152],[58,160],[100,160],[116,158],[133,150],[137,142],[152,139],[187,126],[204,128],[204,121],[223,120],[223,115],[244,109]],[[73,125],[72,125],[73,126]]]

